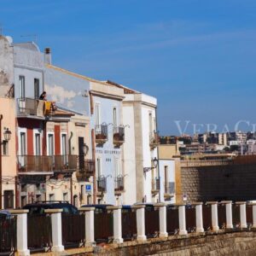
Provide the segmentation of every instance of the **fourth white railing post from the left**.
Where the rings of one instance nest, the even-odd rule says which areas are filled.
[[[113,242],[124,242],[122,238],[122,206],[107,207],[107,210],[113,211]]]

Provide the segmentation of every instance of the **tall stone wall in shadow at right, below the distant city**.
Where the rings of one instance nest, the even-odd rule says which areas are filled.
[[[182,193],[191,201],[256,200],[256,157],[224,166],[181,167]]]

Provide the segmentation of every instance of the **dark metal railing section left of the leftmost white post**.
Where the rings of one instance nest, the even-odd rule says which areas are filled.
[[[15,252],[17,249],[16,216],[0,217],[0,253]]]

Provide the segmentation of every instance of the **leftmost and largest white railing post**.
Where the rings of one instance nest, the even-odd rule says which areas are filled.
[[[17,216],[17,251],[20,256],[30,255],[27,249],[27,212],[28,210],[9,210]]]

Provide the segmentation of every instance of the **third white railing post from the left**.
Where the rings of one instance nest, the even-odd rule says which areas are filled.
[[[85,247],[92,247],[96,245],[94,237],[94,211],[95,207],[81,207],[80,212],[85,214]]]

